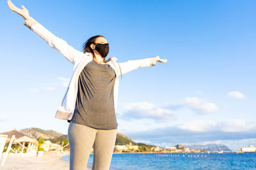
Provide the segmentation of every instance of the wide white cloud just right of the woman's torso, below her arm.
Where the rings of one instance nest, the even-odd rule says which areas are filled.
[[[120,113],[123,117],[131,118],[154,118],[157,120],[172,120],[171,111],[160,108],[154,103],[139,102],[123,104],[123,111]]]

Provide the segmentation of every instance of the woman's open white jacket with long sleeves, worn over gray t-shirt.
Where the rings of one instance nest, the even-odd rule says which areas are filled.
[[[86,66],[88,62],[92,61],[93,54],[88,52],[83,53],[74,49],[72,46],[68,45],[68,43],[63,39],[54,36],[54,34],[45,29],[45,27],[36,22],[36,20],[32,17],[28,17],[25,20],[24,25],[26,25],[33,32],[38,34],[38,36],[44,39],[52,48],[58,50],[58,52],[64,55],[66,59],[74,65],[72,76],[68,83],[67,91],[65,92],[65,96],[63,97],[55,115],[56,118],[71,120],[71,118],[74,115],[74,110],[76,108],[78,78],[84,66]],[[117,106],[118,97],[118,76],[122,76],[122,74],[128,73],[129,71],[132,71],[134,69],[138,69],[139,67],[148,67],[156,65],[156,61],[153,60],[153,58],[129,60],[127,62],[116,62],[116,60],[117,59],[115,57],[111,57],[111,60],[107,62],[107,64],[113,67],[116,73],[113,90],[115,110]]]

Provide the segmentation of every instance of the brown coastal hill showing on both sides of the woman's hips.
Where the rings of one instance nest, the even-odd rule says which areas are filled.
[[[65,134],[61,134],[59,132],[56,131],[45,131],[43,129],[39,129],[39,128],[27,128],[27,129],[21,129],[20,132],[22,132],[23,134],[26,134],[27,136],[31,137],[31,138],[39,138],[41,137],[44,140],[50,140],[52,143],[60,143],[61,141],[67,141],[68,140],[68,136]],[[128,138],[127,136],[125,136],[124,134],[118,132],[116,134],[116,143],[115,145],[139,145],[137,143],[135,143],[131,138]],[[140,145],[145,145],[144,143],[140,143]]]

